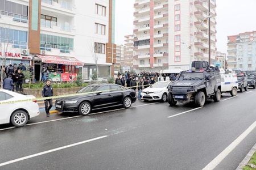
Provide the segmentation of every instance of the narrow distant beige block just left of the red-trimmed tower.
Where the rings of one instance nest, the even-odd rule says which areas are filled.
[[[123,71],[134,71],[134,35],[125,36]]]

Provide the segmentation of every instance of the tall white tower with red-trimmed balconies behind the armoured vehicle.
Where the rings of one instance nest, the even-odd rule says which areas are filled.
[[[189,69],[193,60],[216,58],[216,2],[136,0],[134,67],[138,71]]]

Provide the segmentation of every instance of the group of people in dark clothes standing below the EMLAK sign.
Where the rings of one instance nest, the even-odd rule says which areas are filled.
[[[14,65],[10,64],[7,67],[5,65],[1,66],[0,80],[1,78],[3,78],[3,89],[22,93],[23,91],[22,84],[24,83],[24,78],[25,78],[22,72],[26,70],[27,70],[26,66],[24,66],[23,63],[20,63],[19,65],[14,63]],[[28,70],[32,75],[34,68],[30,66],[28,67]]]

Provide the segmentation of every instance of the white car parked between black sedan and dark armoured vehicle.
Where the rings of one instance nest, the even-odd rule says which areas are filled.
[[[141,92],[141,99],[144,101],[148,100],[161,100],[162,102],[167,101],[168,86],[171,82],[156,82],[152,86],[145,88]]]

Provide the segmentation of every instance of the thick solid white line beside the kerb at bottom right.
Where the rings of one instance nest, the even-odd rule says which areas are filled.
[[[228,154],[230,152],[232,152],[234,150],[234,148],[236,148],[240,142],[243,141],[243,139],[245,139],[245,137],[251,133],[251,131],[253,131],[253,129],[256,127],[256,121],[251,124],[249,126],[249,128],[247,128],[236,140],[234,140],[228,147],[225,148],[224,151],[222,151],[218,156],[216,156],[216,158],[214,158],[212,160],[212,162],[210,162],[206,167],[204,167],[203,170],[210,170],[210,169],[214,169],[215,167],[217,167],[218,164],[220,164],[222,162],[222,160],[224,158],[226,158],[226,156],[228,156]]]

